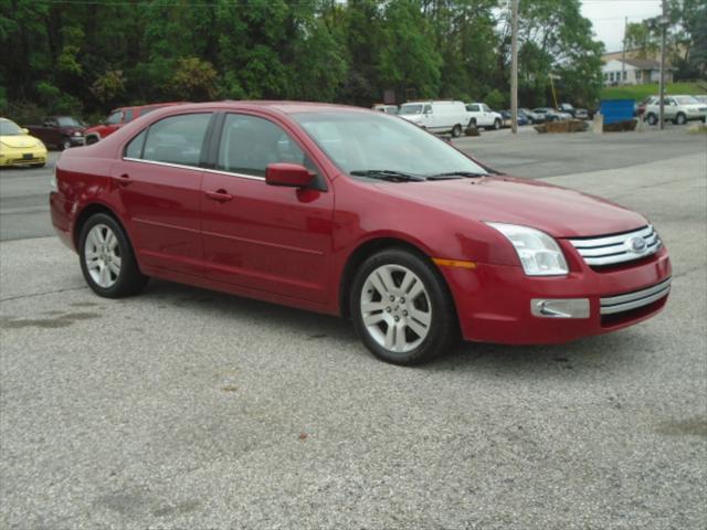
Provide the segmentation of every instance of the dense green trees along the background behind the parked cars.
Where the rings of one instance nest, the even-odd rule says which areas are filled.
[[[384,95],[508,105],[506,0],[0,0],[0,112]],[[520,1],[524,105],[593,103],[602,45],[579,0]],[[18,118],[19,119],[19,118]]]

